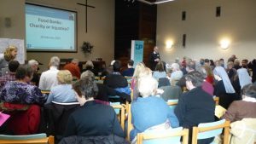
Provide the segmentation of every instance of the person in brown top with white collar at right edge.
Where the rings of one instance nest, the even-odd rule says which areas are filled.
[[[230,122],[236,122],[242,118],[256,118],[256,85],[245,85],[241,93],[242,100],[233,101],[223,116]]]

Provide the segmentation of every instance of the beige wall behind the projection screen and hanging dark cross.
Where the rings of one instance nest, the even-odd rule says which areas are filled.
[[[53,55],[60,58],[78,58],[79,60],[96,60],[101,57],[107,64],[113,60],[114,49],[114,0],[89,0],[88,4],[96,9],[88,8],[88,32],[85,33],[85,9],[77,3],[84,0],[1,0],[0,1],[0,37],[26,38],[25,3],[38,3],[61,9],[72,9],[78,12],[78,53],[43,53],[28,52],[27,60],[37,59],[44,63],[41,70],[46,70],[49,59]],[[5,27],[3,19],[10,17],[12,26]],[[80,46],[84,41],[94,45],[92,55],[84,55]]]

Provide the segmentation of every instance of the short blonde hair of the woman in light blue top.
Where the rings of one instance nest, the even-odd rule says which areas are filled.
[[[72,84],[72,74],[68,70],[61,70],[57,73],[59,84]]]

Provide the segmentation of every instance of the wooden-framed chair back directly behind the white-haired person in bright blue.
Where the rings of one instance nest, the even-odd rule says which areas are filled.
[[[137,134],[137,144],[169,144],[169,143],[180,143],[180,138],[183,137],[183,144],[189,142],[189,130],[183,127],[178,127],[170,130],[157,130],[148,131]],[[143,142],[144,141],[144,142]]]

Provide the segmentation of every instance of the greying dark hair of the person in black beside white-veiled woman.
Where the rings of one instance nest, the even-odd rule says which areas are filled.
[[[186,80],[192,82],[195,87],[200,87],[204,81],[204,77],[201,72],[193,71],[189,72],[186,76]]]

